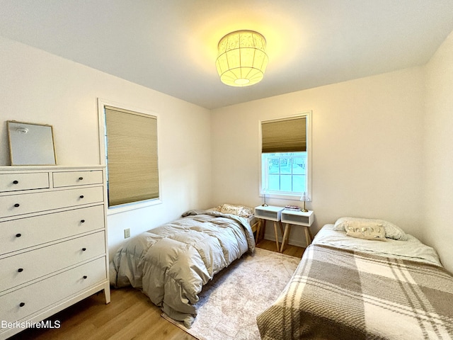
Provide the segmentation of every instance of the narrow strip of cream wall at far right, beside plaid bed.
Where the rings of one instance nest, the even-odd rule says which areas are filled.
[[[424,238],[453,272],[453,32],[426,66]]]

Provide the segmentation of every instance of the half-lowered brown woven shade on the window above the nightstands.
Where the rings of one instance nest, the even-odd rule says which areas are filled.
[[[266,120],[261,123],[262,152],[306,151],[306,118]]]

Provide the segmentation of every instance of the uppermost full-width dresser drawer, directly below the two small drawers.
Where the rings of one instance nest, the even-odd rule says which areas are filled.
[[[17,216],[30,212],[103,202],[103,196],[102,186],[2,196],[0,197],[0,216]]]

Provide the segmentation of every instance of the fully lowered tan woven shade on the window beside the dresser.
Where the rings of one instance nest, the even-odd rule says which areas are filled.
[[[159,198],[157,118],[105,106],[109,206]]]

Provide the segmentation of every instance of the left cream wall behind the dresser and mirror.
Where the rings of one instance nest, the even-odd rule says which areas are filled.
[[[110,254],[125,227],[134,235],[210,206],[210,111],[4,38],[0,74],[0,165],[9,164],[6,120],[53,125],[58,163],[90,165],[101,164],[97,98],[159,115],[163,203],[110,215]]]

